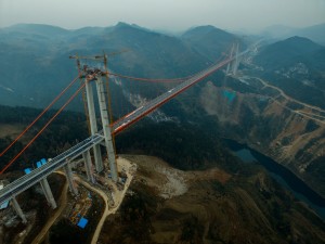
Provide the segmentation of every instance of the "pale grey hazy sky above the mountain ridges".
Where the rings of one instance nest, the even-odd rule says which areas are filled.
[[[75,29],[118,22],[169,30],[207,24],[304,27],[325,23],[325,0],[0,0],[0,27],[38,23]]]

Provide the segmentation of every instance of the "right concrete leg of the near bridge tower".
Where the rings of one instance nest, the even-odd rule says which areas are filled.
[[[106,147],[107,155],[108,155],[108,163],[109,163],[112,179],[115,182],[117,182],[118,176],[117,176],[115,150],[114,150],[114,145],[113,145],[113,138],[112,138],[112,131],[110,131],[109,119],[108,119],[108,111],[107,111],[107,106],[106,106],[105,88],[104,88],[104,82],[103,82],[102,77],[98,77],[96,88],[98,88],[98,97],[99,97],[103,131],[104,131],[104,137],[105,137],[105,147]]]

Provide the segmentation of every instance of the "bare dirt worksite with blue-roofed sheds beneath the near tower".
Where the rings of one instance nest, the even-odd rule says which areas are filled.
[[[58,207],[51,209],[50,205],[46,206],[51,214],[41,227],[37,221],[38,213],[36,209],[25,213],[28,221],[26,224],[22,224],[14,208],[10,207],[9,204],[1,206],[0,243],[28,243],[26,242],[27,236],[28,240],[32,236],[31,243],[42,243],[42,241],[50,239],[52,227],[55,228],[55,224],[66,220],[69,222],[67,228],[80,229],[95,239],[94,232],[100,231],[106,217],[115,214],[119,208],[136,171],[136,166],[125,158],[117,158],[117,163],[119,178],[116,183],[108,176],[110,175],[109,170],[94,174],[94,182],[89,182],[81,160],[72,163],[74,187],[78,194],[68,192],[66,180],[58,197]],[[104,165],[106,164],[107,160],[104,162]],[[64,172],[56,171],[54,175],[64,176]],[[41,193],[40,187],[35,188],[35,190]],[[25,205],[23,206],[25,209]],[[18,234],[12,236],[17,230]],[[12,242],[6,242],[8,240]]]

